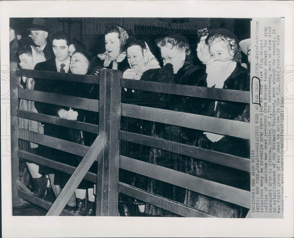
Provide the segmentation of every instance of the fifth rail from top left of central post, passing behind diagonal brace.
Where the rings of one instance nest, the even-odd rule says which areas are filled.
[[[74,167],[74,166],[63,164],[61,162],[58,162],[58,161],[55,161],[52,159],[47,159],[43,156],[32,154],[32,153],[26,152],[24,150],[18,150],[17,156],[19,158],[34,162],[35,164],[45,165],[47,167],[62,171],[67,174],[73,174],[73,172],[76,170],[76,167]],[[97,183],[97,174],[87,172],[84,179],[96,184]]]

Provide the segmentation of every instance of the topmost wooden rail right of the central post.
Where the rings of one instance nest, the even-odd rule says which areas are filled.
[[[232,89],[216,89],[183,84],[166,84],[152,81],[121,79],[121,87],[182,96],[192,96],[221,101],[250,103],[250,92]]]

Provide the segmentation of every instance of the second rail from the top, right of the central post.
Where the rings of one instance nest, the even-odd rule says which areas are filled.
[[[121,116],[161,122],[205,132],[250,139],[250,124],[235,120],[202,116],[180,111],[121,104]]]

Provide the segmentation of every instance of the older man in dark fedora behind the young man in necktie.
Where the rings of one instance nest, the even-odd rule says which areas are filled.
[[[39,46],[43,51],[46,60],[54,58],[52,44],[47,40],[48,26],[44,18],[34,18],[32,25],[28,29],[31,31],[31,38],[36,46]]]

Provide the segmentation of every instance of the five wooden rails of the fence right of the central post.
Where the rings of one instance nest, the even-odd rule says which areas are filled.
[[[193,96],[221,101],[250,103],[249,91],[216,89],[178,84],[161,84],[158,82],[137,81],[131,79],[121,79],[121,87],[133,90],[140,89],[143,91],[168,93],[181,96]],[[130,115],[129,111],[132,111],[132,115]],[[168,115],[168,117],[165,118],[166,120],[159,119],[160,114],[162,113]],[[207,131],[216,134],[229,135],[242,139],[250,139],[250,124],[246,122],[220,119],[179,111],[157,109],[146,106],[137,106],[132,104],[121,104],[121,115],[134,117],[136,119],[149,120],[153,122],[160,122]],[[189,120],[185,122],[179,121],[178,118],[180,115],[184,118],[189,118]],[[203,161],[250,172],[250,160],[248,158],[242,158],[230,154],[202,149],[200,147],[172,142],[166,139],[154,138],[126,131],[119,132],[119,139],[132,143],[140,143],[168,152],[180,153],[191,158],[201,159]],[[184,189],[189,189],[209,197],[237,204],[248,209],[250,208],[249,191],[212,182],[196,176],[178,172],[173,169],[142,162],[140,160],[125,156],[120,156],[119,167],[121,169],[128,170],[136,174],[141,174],[152,179],[167,182],[169,184],[173,184]],[[155,194],[151,194],[142,189],[124,184],[122,182],[118,183],[118,192],[139,199],[143,202],[153,204],[157,207],[181,216],[212,217],[211,214],[206,214],[204,212],[198,211],[197,209],[184,206],[183,204],[164,197],[156,196]]]

